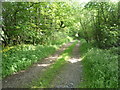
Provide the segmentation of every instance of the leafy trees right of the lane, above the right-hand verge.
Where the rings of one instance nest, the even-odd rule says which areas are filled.
[[[76,12],[76,21],[80,22],[80,37],[87,42],[94,41],[96,46],[103,49],[119,46],[118,3],[88,2]]]

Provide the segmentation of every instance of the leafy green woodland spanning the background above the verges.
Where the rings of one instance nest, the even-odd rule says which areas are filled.
[[[54,44],[78,34],[100,48],[119,46],[118,6],[112,2],[89,2],[84,7],[64,2],[4,2],[2,42],[4,46]]]

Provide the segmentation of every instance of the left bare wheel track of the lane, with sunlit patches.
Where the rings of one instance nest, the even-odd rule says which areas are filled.
[[[9,76],[2,80],[2,88],[22,88],[26,84],[35,81],[40,77],[44,70],[46,70],[50,65],[52,65],[59,55],[72,44],[68,43],[63,45],[59,50],[57,50],[53,55],[42,61],[33,64],[29,69],[20,71],[12,76]]]

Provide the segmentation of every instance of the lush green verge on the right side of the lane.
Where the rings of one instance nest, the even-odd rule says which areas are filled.
[[[82,41],[84,82],[81,88],[117,88],[118,55],[117,48],[101,50]]]

